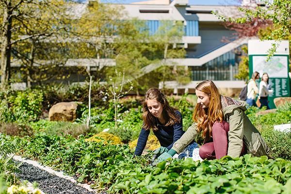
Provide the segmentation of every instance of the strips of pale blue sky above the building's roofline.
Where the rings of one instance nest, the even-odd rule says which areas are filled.
[[[131,3],[144,0],[101,0],[107,3]],[[189,0],[189,5],[239,5],[241,0]]]

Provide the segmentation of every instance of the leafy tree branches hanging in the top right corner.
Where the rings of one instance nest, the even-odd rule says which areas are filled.
[[[226,24],[229,23],[236,26],[233,30],[236,30],[241,35],[249,31],[249,28],[245,26],[249,24],[255,26],[255,28],[251,28],[255,29],[253,33],[249,33],[252,35],[256,35],[259,30],[266,29],[272,24],[272,31],[260,37],[265,40],[283,40],[291,34],[290,0],[273,0],[273,3],[268,3],[266,0],[266,7],[239,7],[238,10],[243,13],[243,16],[229,17],[218,13],[215,14],[223,19]],[[277,46],[278,44],[273,44],[273,47],[269,50],[268,59],[274,55]]]

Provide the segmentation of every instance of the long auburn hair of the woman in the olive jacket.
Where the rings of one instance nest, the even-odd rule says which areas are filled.
[[[213,81],[202,81],[195,89],[210,96],[208,109],[203,109],[201,104],[197,103],[193,113],[193,120],[197,123],[198,130],[202,131],[202,137],[207,141],[212,135],[213,123],[215,121],[223,121],[221,98]]]

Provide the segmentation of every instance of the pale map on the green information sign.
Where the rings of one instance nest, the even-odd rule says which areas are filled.
[[[273,56],[267,62],[267,56],[253,56],[253,72],[260,75],[268,73],[270,78],[288,77],[288,58],[286,56]]]

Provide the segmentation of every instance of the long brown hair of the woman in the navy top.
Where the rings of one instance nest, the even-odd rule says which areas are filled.
[[[156,123],[156,117],[152,115],[148,108],[146,101],[147,100],[152,100],[156,99],[158,102],[162,104],[162,116],[166,120],[165,126],[172,126],[176,123],[180,122],[180,117],[175,113],[177,109],[171,107],[169,105],[169,102],[165,95],[158,89],[158,88],[150,88],[145,95],[145,100],[143,102],[143,108],[144,108],[144,113],[143,113],[143,120],[144,120],[144,125],[143,128],[148,130],[148,129],[153,129],[153,130],[158,130],[157,128],[157,123]]]

